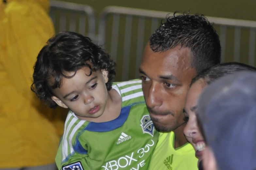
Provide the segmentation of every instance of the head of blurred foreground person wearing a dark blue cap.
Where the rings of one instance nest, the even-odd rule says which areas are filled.
[[[198,100],[207,147],[205,170],[256,169],[256,73],[242,71],[209,85]]]

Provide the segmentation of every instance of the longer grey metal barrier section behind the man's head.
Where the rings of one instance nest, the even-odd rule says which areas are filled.
[[[122,80],[129,79],[129,64],[130,64],[130,52],[131,52],[131,37],[132,37],[132,23],[133,18],[138,18],[137,27],[137,44],[136,44],[136,70],[138,70],[141,57],[144,49],[144,32],[146,29],[150,29],[151,34],[156,30],[159,25],[159,19],[165,19],[169,12],[163,11],[153,11],[145,9],[136,8],[125,8],[125,7],[115,7],[109,6],[104,8],[101,13],[99,20],[99,43],[105,45],[106,42],[106,25],[108,17],[113,15],[112,33],[111,34],[111,47],[110,53],[114,60],[117,59],[118,45],[123,43],[123,62],[122,62]],[[119,32],[120,32],[120,16],[125,16],[125,32],[124,41],[119,42]],[[206,16],[207,17],[207,16]],[[235,20],[226,18],[216,18],[207,17],[210,22],[214,22],[214,25],[220,26],[220,41],[222,47],[222,62],[225,61],[226,53],[226,35],[227,27],[235,27],[234,34],[234,61],[240,60],[240,42],[241,42],[241,28],[248,28],[250,30],[249,37],[249,64],[254,66],[255,63],[255,32],[256,32],[256,22],[255,21],[245,21],[245,20]],[[145,19],[151,19],[151,27],[145,27]],[[107,39],[109,41],[109,39]],[[135,49],[133,49],[135,50]],[[122,57],[122,56],[118,56]],[[138,77],[138,71],[135,73],[135,77]]]

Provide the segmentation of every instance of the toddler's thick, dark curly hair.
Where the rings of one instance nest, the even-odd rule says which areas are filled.
[[[88,37],[74,32],[60,32],[49,39],[38,54],[31,90],[50,108],[56,108],[57,104],[51,98],[54,96],[52,89],[60,88],[63,77],[72,78],[76,71],[83,67],[91,70],[88,76],[92,71],[106,70],[108,71],[106,88],[110,90],[116,75],[115,66],[109,54]],[[74,74],[67,76],[65,72],[74,72]]]

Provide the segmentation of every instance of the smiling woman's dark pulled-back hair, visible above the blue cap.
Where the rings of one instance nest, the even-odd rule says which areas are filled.
[[[237,63],[237,62],[219,64],[200,72],[195,78],[192,79],[191,85],[194,84],[199,79],[202,79],[207,85],[210,85],[212,82],[214,82],[215,80],[225,75],[232,74],[237,71],[243,71],[243,70],[256,71],[256,68],[249,66],[247,64]]]

